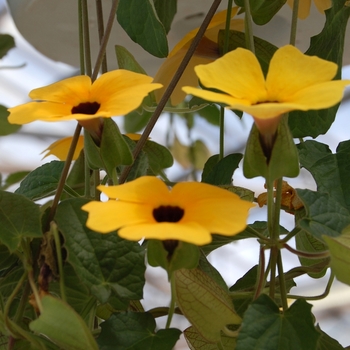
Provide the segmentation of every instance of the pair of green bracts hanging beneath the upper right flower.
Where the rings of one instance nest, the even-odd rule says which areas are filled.
[[[262,176],[269,181],[280,177],[296,177],[299,174],[299,158],[286,118],[282,118],[277,129],[271,156],[267,159],[260,134],[253,124],[243,158],[243,173],[248,179]]]

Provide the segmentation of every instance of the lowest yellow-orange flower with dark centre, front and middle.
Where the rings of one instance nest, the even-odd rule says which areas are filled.
[[[203,245],[211,233],[233,236],[246,227],[254,205],[237,195],[198,182],[176,184],[171,190],[156,177],[144,176],[119,186],[99,186],[110,200],[82,207],[86,226],[100,233],[118,230],[120,237],[181,240]]]

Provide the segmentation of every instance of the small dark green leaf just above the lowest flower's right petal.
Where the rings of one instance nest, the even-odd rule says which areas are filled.
[[[221,160],[218,154],[211,156],[205,163],[202,182],[218,186],[232,183],[233,173],[238,168],[242,157],[240,153],[229,154]]]

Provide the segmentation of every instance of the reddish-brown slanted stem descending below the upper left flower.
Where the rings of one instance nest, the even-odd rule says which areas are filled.
[[[79,135],[80,135],[80,132],[81,132],[81,128],[82,128],[81,125],[78,123],[76,128],[75,128],[75,132],[74,132],[74,135],[73,135],[73,138],[72,138],[72,143],[70,144],[69,151],[68,151],[68,154],[67,154],[67,158],[66,158],[66,161],[64,163],[64,168],[62,170],[62,174],[61,174],[60,180],[59,180],[58,185],[57,185],[57,190],[56,190],[56,193],[55,193],[55,197],[53,199],[52,206],[51,206],[51,209],[50,209],[50,212],[49,212],[49,215],[48,215],[47,230],[50,227],[50,222],[55,217],[57,206],[58,206],[58,202],[59,202],[59,200],[61,198],[61,194],[62,194],[63,189],[64,189],[64,184],[65,184],[67,176],[68,176],[68,172],[69,172],[70,165],[72,163],[74,152],[75,152],[75,149],[77,147],[77,143],[78,143],[78,140],[79,140]]]

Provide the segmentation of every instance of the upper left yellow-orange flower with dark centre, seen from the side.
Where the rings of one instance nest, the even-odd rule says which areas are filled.
[[[29,97],[36,101],[10,108],[8,120],[27,124],[124,115],[139,107],[149,92],[162,87],[152,80],[123,69],[102,74],[93,83],[86,75],[64,79],[32,90]]]

